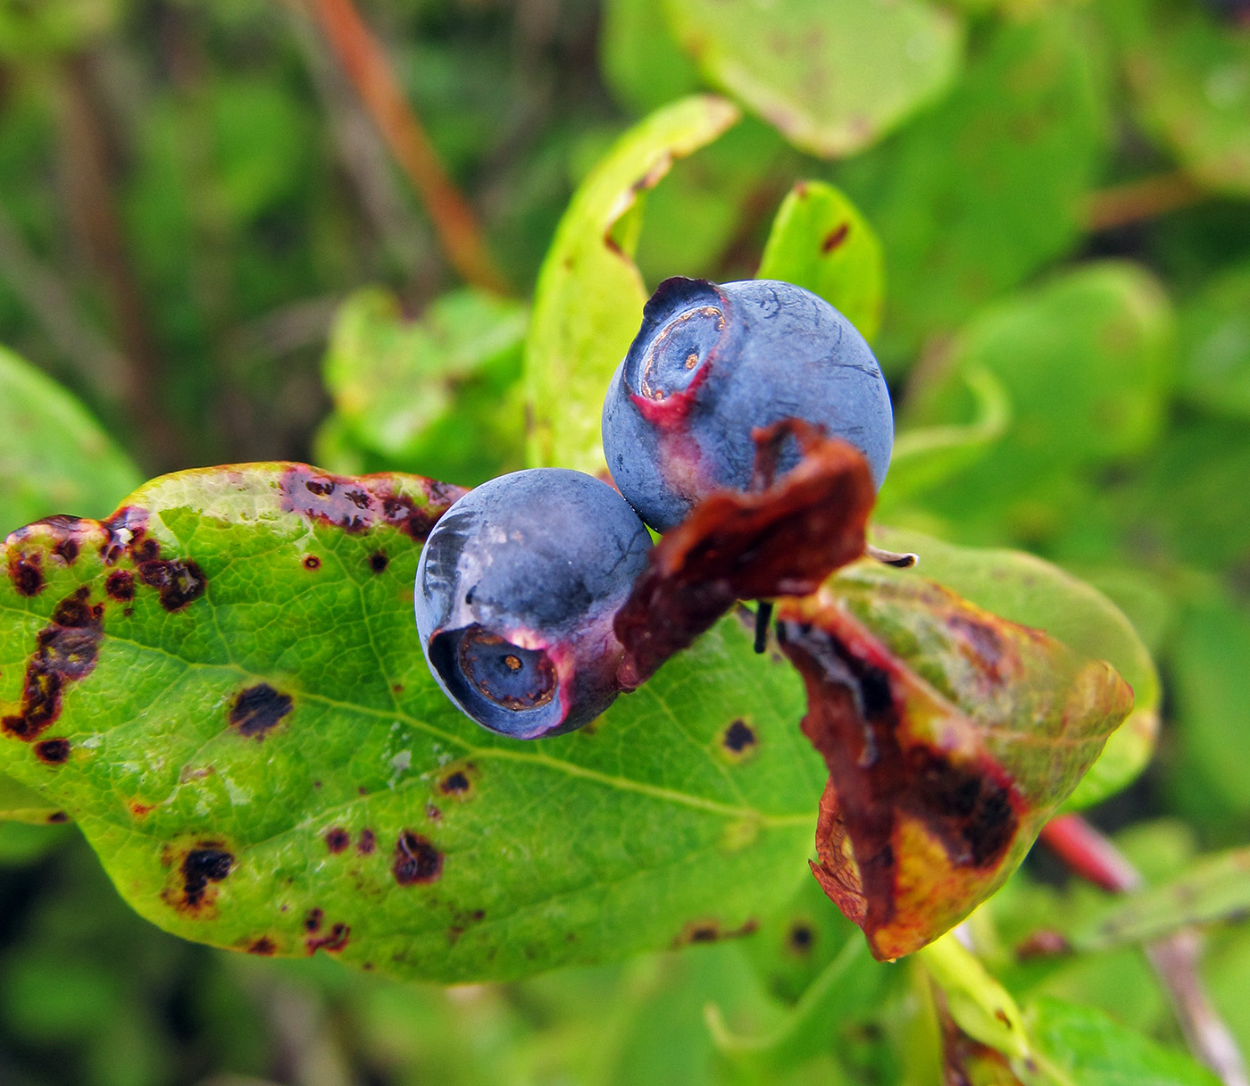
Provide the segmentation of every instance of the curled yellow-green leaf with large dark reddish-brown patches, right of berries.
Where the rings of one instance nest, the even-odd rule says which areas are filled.
[[[778,635],[829,766],[812,872],[881,960],[998,890],[1132,706],[1110,665],[912,574],[851,567]]]

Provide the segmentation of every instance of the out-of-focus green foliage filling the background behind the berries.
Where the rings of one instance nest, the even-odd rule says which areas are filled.
[[[844,9],[878,6],[915,35],[856,24],[840,47]],[[1156,654],[1162,732],[1095,820],[1158,884],[1245,842],[1250,29],[1199,0],[361,9],[516,299],[448,271],[311,7],[0,0],[0,342],[104,422],[0,357],[0,530],[224,461],[515,466],[519,342],[546,350],[528,300],[570,196],[639,116],[718,89],[748,117],[636,211],[600,209],[594,259],[611,231],[640,271],[618,265],[616,339],[664,275],[754,275],[796,181],[836,186],[884,254],[888,522],[1034,550],[1114,599]],[[881,115],[839,116],[841,80]],[[72,827],[0,822],[0,865],[6,1084],[936,1081],[921,969],[856,972],[814,882],[749,939],[444,991],[179,942]],[[1108,907],[1052,874],[1039,857],[970,924],[1035,1041],[1082,1084],[1208,1081],[1139,950],[1014,954]],[[1208,942],[1250,1050],[1250,929]]]

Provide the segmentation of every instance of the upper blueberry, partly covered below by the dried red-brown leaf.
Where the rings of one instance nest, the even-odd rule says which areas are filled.
[[[669,279],[642,311],[604,402],[612,479],[668,531],[720,487],[751,481],[751,430],[804,419],[855,445],[880,487],[894,446],[890,394],[846,317],[800,286]],[[798,462],[798,450],[780,467]]]

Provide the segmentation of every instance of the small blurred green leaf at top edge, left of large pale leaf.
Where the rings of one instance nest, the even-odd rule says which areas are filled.
[[[699,71],[664,21],[664,0],[608,0],[599,32],[604,80],[639,114],[699,89]]]

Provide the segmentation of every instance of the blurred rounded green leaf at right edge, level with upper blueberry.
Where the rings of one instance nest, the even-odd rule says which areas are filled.
[[[1219,275],[1178,312],[1180,390],[1218,415],[1250,419],[1250,266]]]

